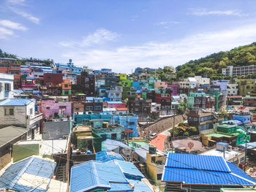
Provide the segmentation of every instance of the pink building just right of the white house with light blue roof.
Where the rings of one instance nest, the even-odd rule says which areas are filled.
[[[54,99],[44,99],[42,104],[42,115],[46,118],[53,118],[54,116],[59,117],[71,117],[72,115],[72,103],[69,102],[58,102]]]

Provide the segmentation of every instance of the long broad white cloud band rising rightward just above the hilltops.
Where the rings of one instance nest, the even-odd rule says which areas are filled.
[[[221,50],[246,45],[256,39],[256,24],[239,26],[226,31],[193,34],[173,42],[147,42],[140,46],[121,46],[113,49],[68,50],[63,58],[73,58],[75,64],[94,69],[112,68],[114,72],[131,72],[138,66],[178,66]]]

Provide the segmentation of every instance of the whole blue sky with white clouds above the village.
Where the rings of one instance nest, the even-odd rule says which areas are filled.
[[[134,72],[256,42],[255,0],[0,0],[0,48]]]

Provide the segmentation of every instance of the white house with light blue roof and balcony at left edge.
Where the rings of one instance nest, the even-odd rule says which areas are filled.
[[[5,99],[0,102],[0,126],[22,126],[31,129],[31,138],[39,134],[42,113],[36,113],[34,99]]]

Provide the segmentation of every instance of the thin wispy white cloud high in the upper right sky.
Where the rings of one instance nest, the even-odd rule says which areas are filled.
[[[238,16],[243,17],[247,16],[248,14],[241,13],[237,10],[225,10],[225,11],[206,11],[205,9],[192,9],[192,15],[197,16],[204,16],[204,15],[232,15],[232,16]]]

